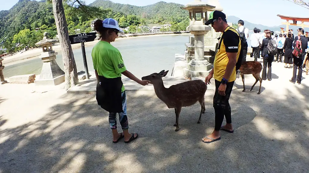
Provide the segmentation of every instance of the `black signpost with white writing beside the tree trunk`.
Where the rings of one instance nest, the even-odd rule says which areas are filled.
[[[75,34],[75,35],[69,35],[71,44],[81,43],[82,45],[82,54],[83,54],[83,60],[84,60],[84,67],[86,72],[86,78],[89,79],[89,72],[88,72],[88,65],[87,65],[87,59],[86,59],[86,50],[85,50],[85,44],[84,42],[92,42],[96,38],[96,33],[86,33],[86,34]]]

